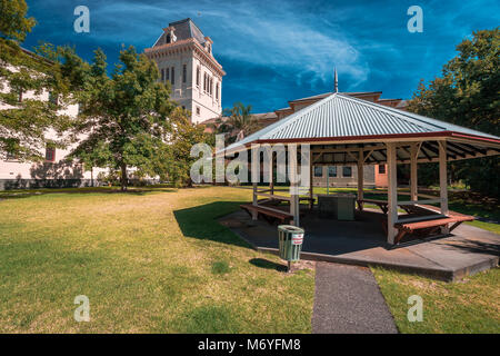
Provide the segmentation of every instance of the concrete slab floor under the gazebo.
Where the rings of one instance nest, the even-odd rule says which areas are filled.
[[[500,235],[462,224],[448,237],[391,248],[382,229],[383,218],[376,211],[357,212],[356,221],[309,214],[301,219],[306,229],[301,258],[382,266],[450,281],[498,266]],[[277,225],[252,221],[244,211],[236,211],[219,221],[257,249],[278,253]]]

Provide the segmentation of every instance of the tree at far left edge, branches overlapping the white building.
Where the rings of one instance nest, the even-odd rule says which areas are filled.
[[[72,122],[59,112],[72,103],[70,83],[59,63],[20,47],[36,24],[27,11],[24,0],[0,2],[0,159],[41,159],[47,144],[66,144],[49,139],[49,130],[62,132]],[[50,100],[42,100],[47,91]]]

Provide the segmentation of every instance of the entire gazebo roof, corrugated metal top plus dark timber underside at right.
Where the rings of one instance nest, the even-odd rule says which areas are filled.
[[[446,139],[449,160],[497,155],[500,138],[439,121],[412,112],[352,98],[339,92],[299,110],[260,131],[227,147],[227,151],[239,151],[252,144],[297,142],[320,146],[330,156],[314,160],[316,164],[356,162],[353,157],[341,152],[363,149],[371,151],[366,164],[386,161],[386,148],[381,142],[423,141],[419,161],[436,161],[438,139]],[[410,159],[408,147],[398,149],[398,160]]]

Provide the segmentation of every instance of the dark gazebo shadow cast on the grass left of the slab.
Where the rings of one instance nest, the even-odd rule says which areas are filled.
[[[218,218],[238,210],[240,204],[242,201],[214,201],[174,210],[173,216],[186,237],[251,248],[248,243],[217,221]]]

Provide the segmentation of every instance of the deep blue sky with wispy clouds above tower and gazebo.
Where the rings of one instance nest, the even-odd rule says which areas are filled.
[[[253,112],[331,91],[333,67],[341,91],[383,91],[411,98],[419,80],[440,75],[456,46],[473,30],[499,26],[499,1],[190,1],[27,0],[39,41],[72,44],[90,60],[100,47],[110,62],[122,44],[151,47],[169,22],[190,17],[213,40],[227,76],[222,105],[252,105]],[[77,33],[73,10],[90,9],[90,33]],[[410,33],[410,6],[423,10],[423,32]]]

